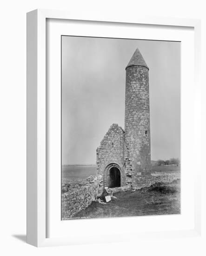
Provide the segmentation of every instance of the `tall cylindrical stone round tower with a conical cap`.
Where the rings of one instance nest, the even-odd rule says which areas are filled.
[[[149,68],[139,49],[126,66],[125,169],[135,182],[150,173]]]

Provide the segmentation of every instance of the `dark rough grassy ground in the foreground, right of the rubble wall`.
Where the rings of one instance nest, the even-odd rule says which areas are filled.
[[[107,218],[180,214],[180,180],[159,182],[149,188],[116,193],[106,204],[92,202],[74,218]]]

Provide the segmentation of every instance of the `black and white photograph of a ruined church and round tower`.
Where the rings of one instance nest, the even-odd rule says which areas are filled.
[[[178,215],[181,42],[61,36],[61,219]]]

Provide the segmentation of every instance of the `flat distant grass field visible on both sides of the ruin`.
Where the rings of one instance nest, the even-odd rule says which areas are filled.
[[[180,166],[176,165],[164,165],[164,166],[152,166],[152,172],[171,172],[179,171]],[[96,165],[63,165],[62,166],[62,179],[85,179],[90,175],[97,174]]]

